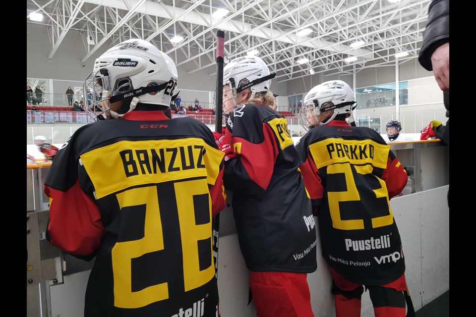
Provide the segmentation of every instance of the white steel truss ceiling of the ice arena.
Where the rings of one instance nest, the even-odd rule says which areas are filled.
[[[415,58],[430,0],[27,0],[27,23],[46,25],[54,58],[68,32],[79,31],[88,60],[106,41],[151,41],[186,64],[188,73],[215,74],[218,30],[225,56],[257,50],[278,82],[314,73],[352,73],[365,67]],[[219,8],[229,11],[212,16]],[[31,21],[31,12],[43,14]],[[297,32],[310,29],[301,36]],[[183,40],[171,42],[174,36]],[[363,41],[361,47],[350,45]],[[347,62],[348,57],[357,57]],[[297,60],[306,57],[307,62]]]

